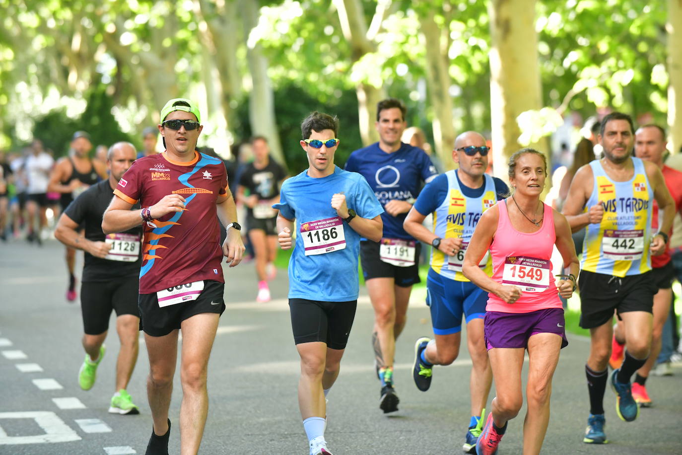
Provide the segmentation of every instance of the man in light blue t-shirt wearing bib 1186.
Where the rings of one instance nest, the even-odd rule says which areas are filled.
[[[289,261],[289,308],[301,356],[299,407],[310,455],[331,455],[325,397],[338,377],[359,293],[360,238],[381,239],[383,209],[367,182],[334,165],[338,119],[314,112],[301,124],[310,167],[284,181],[277,229]],[[297,239],[292,240],[296,220]]]

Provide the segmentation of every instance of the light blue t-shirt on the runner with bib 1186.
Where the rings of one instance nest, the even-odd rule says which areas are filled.
[[[331,196],[343,192],[346,194],[346,205],[355,210],[357,216],[374,218],[383,214],[383,209],[376,201],[372,188],[361,175],[346,172],[334,166],[334,173],[327,177],[313,178],[308,170],[296,177],[286,179],[280,190],[280,203],[272,207],[288,220],[296,219],[295,232],[297,238],[291,259],[289,260],[289,298],[310,299],[321,302],[350,302],[357,299],[359,293],[359,277],[357,258],[360,251],[360,235],[349,224],[342,221],[336,225],[342,227],[346,248],[333,250],[323,254],[310,254],[313,247],[304,247],[304,235],[328,235],[322,230],[317,233],[306,231],[301,234],[301,225],[323,226],[316,224],[321,220],[338,217],[331,208]],[[330,223],[327,223],[331,225]],[[352,224],[352,221],[351,221]],[[336,235],[336,233],[335,233]],[[318,241],[321,237],[318,236]],[[335,237],[338,238],[338,237]]]

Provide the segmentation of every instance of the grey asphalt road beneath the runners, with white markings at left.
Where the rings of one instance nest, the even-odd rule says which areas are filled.
[[[79,265],[82,259],[78,259]],[[273,282],[273,301],[256,304],[253,265],[226,269],[227,310],[209,364],[208,422],[203,454],[307,454],[297,405],[298,355],[286,304],[285,271]],[[147,355],[141,345],[128,391],[140,415],[107,412],[118,351],[115,332],[89,392],[80,390],[82,325],[78,304],[64,299],[63,248],[23,242],[0,244],[0,454],[143,454],[151,431],[145,394]],[[364,291],[364,290],[363,290]],[[113,327],[113,319],[110,327]],[[411,378],[413,343],[429,335],[423,302],[411,302],[398,340],[394,378],[400,411],[379,410],[370,330],[372,308],[361,296],[340,377],[329,394],[326,439],[340,454],[461,454],[469,422],[469,356],[436,367],[431,389],[419,392]],[[655,402],[638,420],[621,422],[614,394],[606,392],[610,443],[582,443],[588,398],[584,377],[587,339],[569,335],[554,375],[552,415],[543,454],[682,454],[682,368],[651,377]],[[170,453],[179,453],[181,387],[176,375],[170,418]],[[491,392],[491,397],[494,390]],[[499,454],[520,454],[522,415],[509,422]]]

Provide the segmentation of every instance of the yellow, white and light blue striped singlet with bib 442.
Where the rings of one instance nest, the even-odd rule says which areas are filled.
[[[580,269],[597,274],[629,276],[651,270],[651,209],[653,192],[644,163],[631,158],[634,175],[628,181],[612,181],[599,160],[590,163],[594,188],[586,209],[604,207],[599,224],[588,224]]]

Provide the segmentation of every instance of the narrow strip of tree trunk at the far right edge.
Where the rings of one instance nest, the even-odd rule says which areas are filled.
[[[682,147],[682,0],[668,0],[668,138],[672,153]]]

